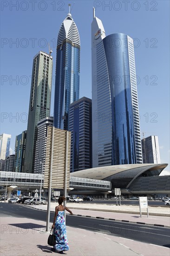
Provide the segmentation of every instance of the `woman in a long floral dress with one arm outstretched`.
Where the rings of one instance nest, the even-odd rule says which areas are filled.
[[[62,203],[65,201],[66,198],[64,196],[60,196],[58,199],[59,205],[55,208],[55,216],[52,225],[53,233],[56,237],[56,244],[54,245],[55,251],[59,253],[63,253],[63,251],[69,250],[69,245],[67,241],[66,235],[66,227],[65,227],[65,218],[64,212],[65,210],[68,211],[71,215],[72,211],[69,210],[67,207],[63,206]]]

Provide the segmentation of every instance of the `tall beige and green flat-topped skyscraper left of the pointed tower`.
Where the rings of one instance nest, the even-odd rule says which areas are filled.
[[[33,58],[24,172],[33,173],[37,123],[50,115],[51,87],[52,56],[40,51]]]

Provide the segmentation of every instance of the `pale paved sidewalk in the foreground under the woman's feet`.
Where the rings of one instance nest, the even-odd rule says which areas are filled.
[[[47,244],[46,222],[1,216],[1,256],[56,255]],[[50,223],[52,224],[52,223]],[[170,249],[119,236],[67,227],[70,250],[67,256],[169,256]]]

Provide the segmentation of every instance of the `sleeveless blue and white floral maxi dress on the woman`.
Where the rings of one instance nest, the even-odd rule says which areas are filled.
[[[56,245],[54,245],[54,249],[57,251],[69,250],[69,245],[68,245],[67,235],[66,235],[64,211],[58,211],[53,233],[55,234],[55,237],[56,237]]]

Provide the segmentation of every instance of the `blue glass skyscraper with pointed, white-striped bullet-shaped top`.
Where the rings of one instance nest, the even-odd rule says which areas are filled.
[[[57,40],[54,127],[68,130],[69,107],[79,99],[80,39],[72,15],[61,24]]]

